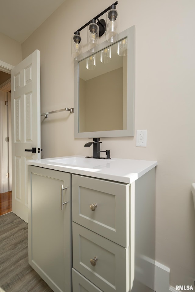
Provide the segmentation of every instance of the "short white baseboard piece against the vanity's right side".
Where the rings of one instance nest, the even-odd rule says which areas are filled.
[[[170,269],[160,262],[155,261],[154,266],[154,291],[170,292],[169,289],[169,273]],[[172,292],[175,292],[174,290]]]

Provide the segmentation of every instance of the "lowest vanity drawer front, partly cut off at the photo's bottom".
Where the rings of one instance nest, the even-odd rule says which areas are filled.
[[[73,269],[73,292],[103,292]]]

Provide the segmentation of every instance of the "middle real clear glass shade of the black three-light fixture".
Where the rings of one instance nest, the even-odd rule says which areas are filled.
[[[90,23],[87,26],[87,49],[96,52],[99,48],[99,26]]]

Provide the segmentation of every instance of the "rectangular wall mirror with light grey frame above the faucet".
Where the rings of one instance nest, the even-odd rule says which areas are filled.
[[[132,26],[75,60],[76,138],[134,136],[134,38]]]

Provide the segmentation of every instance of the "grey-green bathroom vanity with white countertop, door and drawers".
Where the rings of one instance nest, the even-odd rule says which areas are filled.
[[[157,162],[27,164],[29,264],[53,291],[154,290]]]

